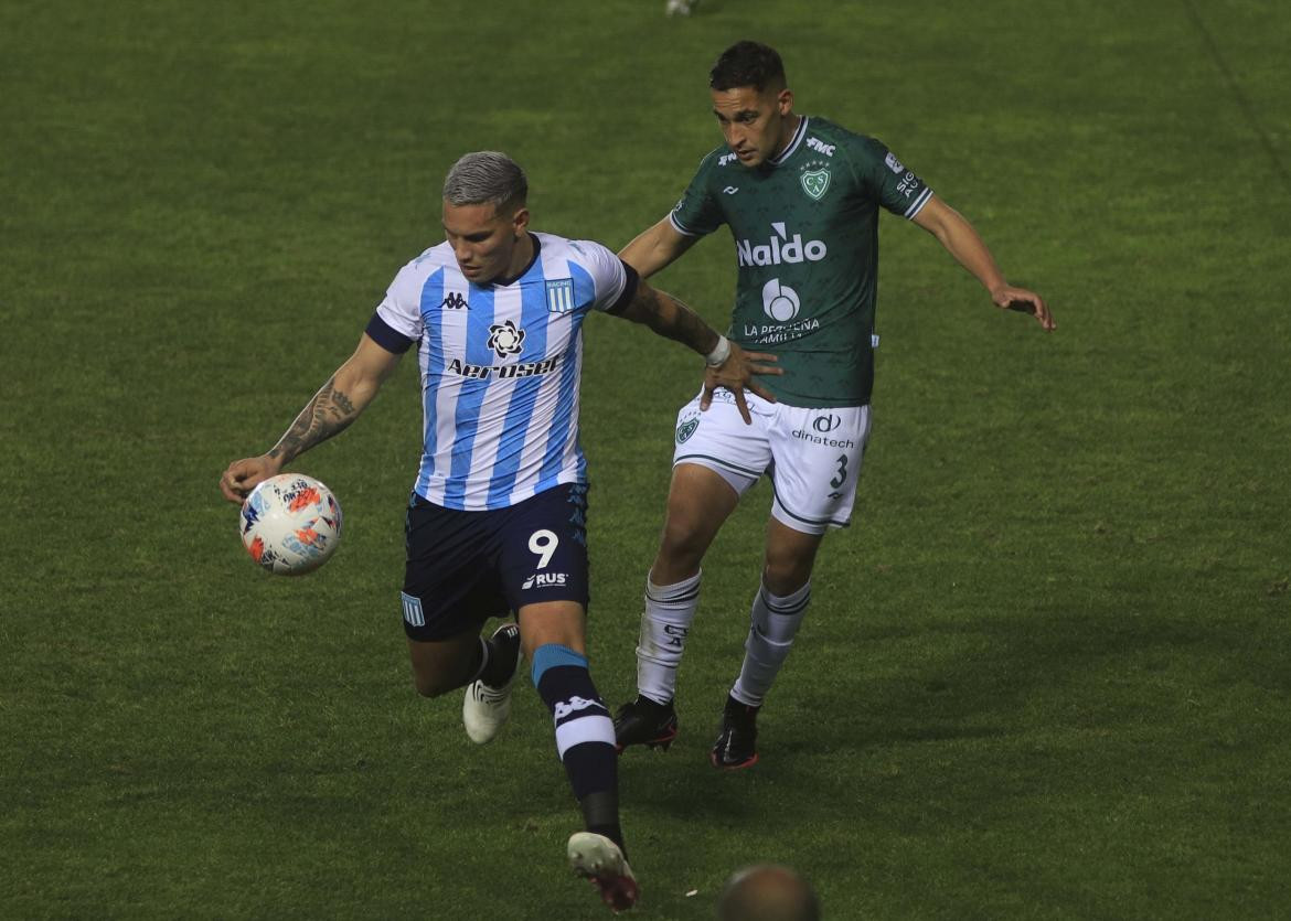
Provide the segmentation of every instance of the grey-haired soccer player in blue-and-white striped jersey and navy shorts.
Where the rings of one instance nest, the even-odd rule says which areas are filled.
[[[586,829],[576,872],[616,909],[636,902],[618,819],[609,711],[587,668],[587,473],[578,444],[582,322],[604,312],[706,357],[706,393],[776,374],[611,250],[529,230],[528,183],[502,154],[467,154],[444,181],[447,240],[395,276],[354,355],[267,453],[221,479],[240,502],[262,480],[346,428],[400,356],[417,347],[423,449],[407,515],[402,608],[413,680],[426,697],[466,686],[476,743],[510,715],[522,653],[553,715],[556,752]],[[758,364],[755,364],[758,362]],[[515,613],[489,639],[480,628]]]

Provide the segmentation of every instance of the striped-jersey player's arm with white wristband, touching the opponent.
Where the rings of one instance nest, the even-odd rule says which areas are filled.
[[[713,391],[726,387],[735,395],[740,415],[746,423],[753,422],[744,391],[750,390],[767,402],[776,397],[754,378],[755,374],[784,374],[773,362],[775,355],[746,352],[715,329],[704,319],[666,292],[651,288],[644,281],[636,285],[636,294],[618,315],[633,322],[649,326],[660,335],[675,339],[683,346],[704,356],[707,368],[704,373],[704,395],[700,409],[707,409],[713,402]]]

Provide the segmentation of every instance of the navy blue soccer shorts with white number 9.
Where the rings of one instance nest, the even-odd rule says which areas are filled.
[[[434,641],[542,601],[587,606],[587,486],[463,512],[416,493],[404,528],[404,632]]]

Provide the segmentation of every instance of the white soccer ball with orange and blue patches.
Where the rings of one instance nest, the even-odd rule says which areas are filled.
[[[239,522],[250,559],[278,575],[312,573],[341,543],[341,503],[303,473],[279,473],[256,486]]]

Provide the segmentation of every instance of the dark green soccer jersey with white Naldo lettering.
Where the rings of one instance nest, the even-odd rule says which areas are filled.
[[[773,160],[749,169],[724,144],[700,164],[670,215],[687,236],[735,237],[728,335],[773,352],[759,381],[791,406],[861,406],[874,384],[879,205],[906,219],[932,197],[874,138],[803,116]]]

